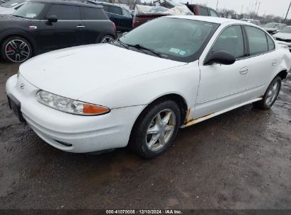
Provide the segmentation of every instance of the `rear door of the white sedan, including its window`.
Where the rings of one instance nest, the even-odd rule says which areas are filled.
[[[249,43],[249,64],[244,100],[251,100],[265,93],[273,74],[279,70],[280,59],[275,52],[275,43],[268,34],[249,25],[245,26],[245,30]]]

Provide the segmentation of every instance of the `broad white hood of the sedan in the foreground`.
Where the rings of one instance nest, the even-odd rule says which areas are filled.
[[[79,99],[103,86],[184,64],[187,63],[98,44],[41,54],[21,64],[19,71],[37,88]]]

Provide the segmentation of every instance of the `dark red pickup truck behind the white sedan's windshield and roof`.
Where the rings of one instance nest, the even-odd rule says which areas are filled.
[[[165,6],[168,8],[171,8],[171,4],[165,4],[166,1],[164,1],[161,6]],[[219,17],[217,12],[213,10],[212,8],[207,8],[205,6],[200,6],[198,4],[186,4],[186,6],[192,11],[195,16],[215,16]],[[143,13],[143,14],[135,14],[132,21],[132,28],[137,28],[137,26],[142,25],[143,23],[147,23],[148,21],[151,21],[154,18],[159,18],[161,16],[169,16],[171,14],[166,13]]]

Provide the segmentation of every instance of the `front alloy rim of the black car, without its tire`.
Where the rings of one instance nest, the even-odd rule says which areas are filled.
[[[11,62],[25,62],[30,57],[30,47],[23,40],[11,40],[5,46],[5,54]]]

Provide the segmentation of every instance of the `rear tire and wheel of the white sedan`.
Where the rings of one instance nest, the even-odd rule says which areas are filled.
[[[253,103],[253,106],[263,110],[270,109],[278,98],[281,83],[281,78],[279,76],[275,76],[275,79],[273,79],[273,81],[268,86],[266,93],[263,95],[263,100],[259,100],[258,102]]]

